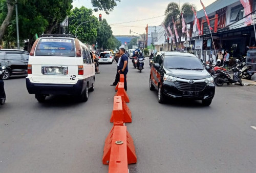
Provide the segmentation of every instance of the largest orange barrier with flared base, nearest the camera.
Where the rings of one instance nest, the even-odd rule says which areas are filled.
[[[123,142],[122,145],[124,145],[126,150],[124,150],[123,148],[119,150],[119,148],[116,147],[116,141],[122,141]],[[112,127],[108,137],[106,137],[104,150],[103,150],[102,163],[116,165],[116,163],[118,163],[117,161],[116,163],[110,163],[110,162],[117,159],[118,161],[120,161],[119,158],[124,158],[125,156],[127,158],[128,164],[137,162],[134,142],[131,135],[127,131],[127,127],[115,125]],[[125,162],[125,161],[121,160],[120,163],[121,162]],[[119,172],[122,172],[122,171],[119,171]]]

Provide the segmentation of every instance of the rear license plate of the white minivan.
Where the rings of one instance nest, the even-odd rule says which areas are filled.
[[[68,67],[42,66],[42,74],[44,74],[44,75],[67,75]]]

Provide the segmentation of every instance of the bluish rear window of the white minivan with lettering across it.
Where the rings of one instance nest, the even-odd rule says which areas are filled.
[[[75,57],[74,40],[65,38],[42,38],[38,42],[35,55]]]

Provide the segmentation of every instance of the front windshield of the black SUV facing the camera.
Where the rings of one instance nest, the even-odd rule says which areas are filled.
[[[166,69],[203,70],[204,66],[197,57],[165,56],[163,66]]]

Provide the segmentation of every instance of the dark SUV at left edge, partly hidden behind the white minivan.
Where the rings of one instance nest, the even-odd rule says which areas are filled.
[[[22,75],[28,72],[29,52],[16,49],[0,50],[0,67],[3,70],[3,79],[9,79],[11,75]]]

